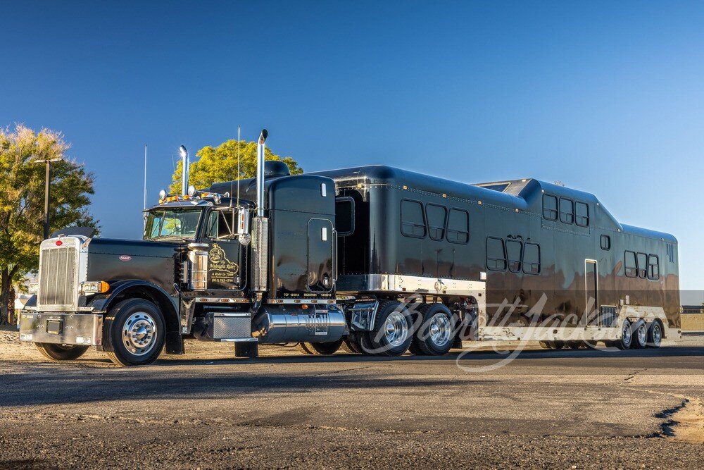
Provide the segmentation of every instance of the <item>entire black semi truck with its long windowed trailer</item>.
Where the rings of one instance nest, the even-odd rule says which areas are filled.
[[[64,233],[40,247],[20,339],[149,364],[184,338],[298,343],[307,354],[446,354],[463,341],[679,335],[677,240],[620,224],[591,194],[538,180],[467,185],[387,166],[162,192],[144,240]],[[185,163],[185,161],[184,161]]]

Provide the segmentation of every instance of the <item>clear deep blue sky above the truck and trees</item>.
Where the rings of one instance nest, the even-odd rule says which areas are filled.
[[[703,289],[704,4],[4,1],[0,125],[54,128],[139,237],[180,144],[261,127],[307,171],[387,163],[595,193]]]

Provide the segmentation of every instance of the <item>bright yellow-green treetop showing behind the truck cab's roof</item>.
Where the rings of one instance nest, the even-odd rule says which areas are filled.
[[[239,175],[237,173],[237,147],[239,144]],[[257,144],[256,142],[246,142],[244,140],[228,140],[222,142],[218,147],[203,147],[196,156],[198,161],[191,163],[189,184],[196,189],[210,187],[213,183],[223,181],[239,180],[242,178],[253,178],[257,169]],[[264,153],[265,160],[281,160],[287,164],[291,175],[300,175],[303,168],[298,166],[290,156],[283,158],[275,155],[267,147]],[[181,192],[181,171],[182,163],[178,162],[176,171],[172,176],[172,185],[169,187],[171,194]]]

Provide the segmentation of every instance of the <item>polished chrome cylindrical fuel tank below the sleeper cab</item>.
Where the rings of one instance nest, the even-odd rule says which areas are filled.
[[[252,336],[260,344],[333,342],[348,334],[345,314],[337,305],[267,305],[254,317]]]

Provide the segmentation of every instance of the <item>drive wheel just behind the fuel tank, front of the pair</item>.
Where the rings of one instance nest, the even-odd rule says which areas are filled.
[[[401,302],[382,302],[377,311],[374,329],[368,336],[374,354],[401,356],[408,351],[413,340],[412,324],[408,309]]]

